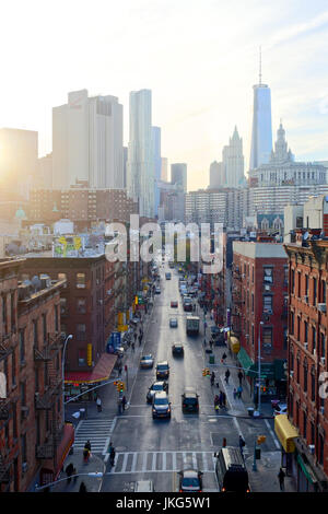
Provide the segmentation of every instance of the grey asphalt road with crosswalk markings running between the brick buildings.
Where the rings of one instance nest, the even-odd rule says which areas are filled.
[[[122,416],[116,418],[112,441],[117,458],[113,469],[107,466],[102,491],[132,491],[136,480],[152,479],[155,491],[177,491],[176,471],[191,465],[203,471],[203,491],[216,491],[213,453],[226,437],[229,445],[238,445],[238,435],[246,441],[246,462],[251,460],[256,435],[267,435],[262,451],[276,451],[270,433],[270,423],[245,416],[241,400],[233,400],[233,383],[223,381],[224,369],[212,366],[219,377],[220,387],[227,395],[227,410],[219,416],[213,408],[212,388],[209,377],[202,376],[208,365],[203,349],[203,327],[197,338],[186,335],[186,316],[178,291],[178,273],[172,271],[172,280],[165,280],[168,266],[161,268],[161,294],[155,295],[154,307],[141,354],[152,353],[154,362],[167,360],[171,366],[168,397],[172,402],[171,420],[153,420],[151,405],[145,401],[148,388],[155,381],[152,370],[139,369],[139,349],[136,351],[129,373],[130,402]],[[178,300],[178,308],[171,307],[171,301]],[[178,318],[178,327],[169,328],[169,317]],[[183,342],[184,358],[172,355],[172,344]],[[216,355],[223,350],[215,349]],[[216,360],[218,361],[218,360]],[[235,384],[237,386],[237,384]],[[199,394],[199,414],[181,412],[181,394],[185,386],[194,386]]]

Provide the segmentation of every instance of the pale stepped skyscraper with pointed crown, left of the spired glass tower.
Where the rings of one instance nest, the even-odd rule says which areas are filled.
[[[243,139],[239,138],[237,127],[235,127],[233,137],[229,144],[223,148],[222,162],[225,175],[226,187],[239,187],[244,185],[244,155]]]

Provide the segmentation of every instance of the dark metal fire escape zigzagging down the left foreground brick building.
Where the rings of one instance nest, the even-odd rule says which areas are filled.
[[[60,366],[60,350],[62,339],[60,334],[48,334],[47,342],[42,349],[34,348],[34,361],[36,365],[44,364],[46,369],[47,383],[44,393],[35,393],[35,410],[46,411],[50,414],[50,429],[46,432],[46,439],[36,445],[35,456],[37,459],[54,459],[56,467],[57,447],[61,441],[63,425],[56,419],[56,401],[61,396],[62,376]]]

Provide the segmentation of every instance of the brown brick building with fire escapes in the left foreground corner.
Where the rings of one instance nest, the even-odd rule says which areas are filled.
[[[24,259],[2,260],[0,491],[28,491],[55,480],[73,442],[63,422],[60,292],[65,280],[19,283]]]

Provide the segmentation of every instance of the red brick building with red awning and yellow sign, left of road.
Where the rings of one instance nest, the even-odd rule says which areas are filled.
[[[61,334],[72,335],[66,350],[66,384],[68,395],[75,395],[90,388],[90,384],[108,379],[116,357],[106,353],[105,312],[109,318],[113,297],[105,303],[113,281],[113,269],[106,266],[105,255],[95,257],[28,257],[24,266],[24,278],[31,279],[37,272],[47,273],[51,279],[66,279],[62,290]],[[108,273],[108,278],[106,277]],[[110,293],[114,294],[113,292]],[[110,303],[112,302],[112,303]],[[89,395],[87,395],[89,398]]]

